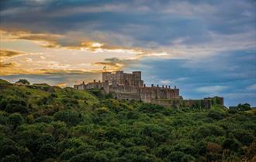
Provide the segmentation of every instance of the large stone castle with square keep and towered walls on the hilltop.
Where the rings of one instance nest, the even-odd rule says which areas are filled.
[[[203,100],[183,100],[179,95],[179,89],[171,86],[154,86],[150,87],[144,84],[141,79],[141,72],[123,73],[116,71],[115,73],[103,72],[102,82],[87,83],[85,82],[74,85],[75,89],[102,89],[102,93],[112,93],[116,99],[124,100],[142,100],[144,103],[155,103],[163,106],[202,106],[209,108],[213,104],[213,100],[218,100],[223,105],[222,97],[205,98]]]

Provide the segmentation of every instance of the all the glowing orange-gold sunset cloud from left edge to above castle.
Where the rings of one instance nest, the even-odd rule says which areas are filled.
[[[24,39],[32,42],[36,42],[40,46],[46,48],[54,48],[54,49],[74,49],[74,50],[88,50],[91,52],[116,52],[119,54],[126,53],[131,54],[128,59],[117,59],[117,58],[109,58],[105,59],[101,62],[92,62],[92,66],[107,66],[108,70],[114,71],[123,69],[123,67],[131,66],[137,63],[138,59],[141,59],[145,56],[164,56],[167,55],[165,52],[154,52],[153,50],[147,49],[137,49],[137,48],[126,48],[122,46],[109,46],[102,42],[95,42],[91,40],[86,40],[82,38],[70,38],[67,35],[56,35],[50,33],[35,33],[35,32],[26,32],[26,31],[17,31],[17,30],[6,30],[0,29],[1,41],[8,40],[17,40]],[[12,75],[12,74],[47,74],[47,73],[75,73],[72,70],[68,70],[68,68],[72,67],[68,64],[60,64],[55,61],[49,60],[41,60],[37,61],[40,68],[46,69],[22,69],[22,66],[17,67],[15,63],[4,63],[4,59],[19,56],[22,54],[26,54],[26,52],[19,52],[12,49],[0,49],[0,61],[1,72],[0,75]],[[20,60],[19,60],[20,61]],[[18,62],[19,62],[18,61]],[[32,61],[32,59],[24,59],[24,62]],[[35,61],[33,63],[36,65]],[[78,69],[79,71],[79,69]],[[81,70],[84,73],[84,70]],[[90,69],[88,70],[92,73],[102,72],[102,69]],[[79,72],[80,73],[80,72]]]

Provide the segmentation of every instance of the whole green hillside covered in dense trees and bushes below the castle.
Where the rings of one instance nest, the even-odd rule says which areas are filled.
[[[254,110],[164,108],[0,82],[1,161],[253,161]]]

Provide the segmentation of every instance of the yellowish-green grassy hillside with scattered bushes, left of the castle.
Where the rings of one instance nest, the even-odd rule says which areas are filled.
[[[99,103],[92,93],[72,88],[37,84],[28,86],[0,85],[2,105],[8,113],[47,114],[49,110],[83,110]],[[9,103],[5,106],[5,103]],[[17,103],[17,104],[16,104]],[[48,112],[50,113],[50,112]],[[55,112],[52,112],[55,113]]]

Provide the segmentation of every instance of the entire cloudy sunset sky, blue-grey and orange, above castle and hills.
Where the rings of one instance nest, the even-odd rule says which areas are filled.
[[[104,66],[256,106],[256,1],[0,1],[1,79],[73,86]]]

